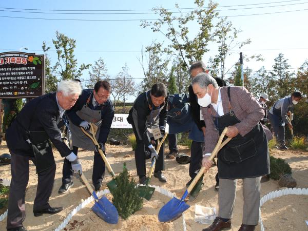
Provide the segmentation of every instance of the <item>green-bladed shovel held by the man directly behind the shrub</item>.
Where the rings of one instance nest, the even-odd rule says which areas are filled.
[[[161,142],[159,142],[159,140],[157,141],[157,145],[158,145],[157,148],[156,148],[157,153],[159,153],[160,148],[161,148],[162,144],[164,143],[164,141],[167,137],[167,134],[168,133],[165,132],[165,136],[163,137]],[[153,174],[153,171],[154,171],[154,168],[155,168],[155,164],[156,164],[156,158],[153,158],[152,163],[151,163],[151,167],[150,167],[150,170],[149,170],[149,174],[148,174],[148,177],[146,179],[145,186],[141,186],[141,185],[138,186],[139,196],[147,199],[148,201],[151,199],[151,197],[152,197],[152,195],[155,191],[154,187],[149,187],[151,177],[152,177],[152,174]]]

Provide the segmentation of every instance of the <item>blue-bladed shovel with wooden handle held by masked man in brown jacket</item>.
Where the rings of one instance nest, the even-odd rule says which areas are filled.
[[[227,132],[227,128],[222,131],[221,136],[218,140],[218,143],[216,147],[214,148],[213,152],[211,153],[209,160],[213,160],[216,156],[218,150],[220,149],[220,144],[225,136],[225,133]],[[223,142],[223,145],[225,145],[227,142],[229,142],[231,139],[228,138]],[[188,194],[191,192],[191,190],[195,187],[196,183],[200,179],[200,177],[203,175],[203,172],[205,171],[205,167],[202,167],[200,171],[198,172],[195,179],[191,182],[191,184],[188,186],[186,191],[184,192],[182,198],[179,200],[178,198],[174,197],[172,198],[168,203],[166,203],[159,211],[158,219],[160,222],[167,222],[171,220],[175,220],[179,218],[182,213],[188,209],[190,206],[184,202]]]

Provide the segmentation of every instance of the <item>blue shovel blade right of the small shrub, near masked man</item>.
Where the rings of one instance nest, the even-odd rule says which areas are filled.
[[[160,222],[172,221],[180,217],[189,207],[183,200],[174,197],[159,210],[158,220]]]

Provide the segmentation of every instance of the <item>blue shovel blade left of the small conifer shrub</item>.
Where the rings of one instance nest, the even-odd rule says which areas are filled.
[[[115,208],[106,197],[102,197],[98,202],[95,201],[92,210],[96,215],[109,224],[117,224],[119,221],[117,208]]]

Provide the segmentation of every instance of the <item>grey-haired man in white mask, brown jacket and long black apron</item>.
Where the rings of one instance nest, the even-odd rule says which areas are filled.
[[[226,136],[233,138],[218,152],[219,215],[203,230],[232,227],[237,179],[243,179],[243,219],[239,231],[253,231],[259,221],[260,180],[269,174],[267,139],[260,123],[264,110],[244,87],[219,87],[206,73],[192,80],[192,88],[206,125],[202,160],[206,170],[213,165],[208,157],[225,127]]]

